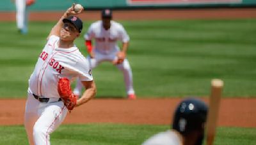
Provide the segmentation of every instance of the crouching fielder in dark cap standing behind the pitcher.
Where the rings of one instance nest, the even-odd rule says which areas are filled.
[[[125,88],[128,99],[136,99],[132,83],[132,70],[129,61],[126,59],[126,52],[129,45],[129,36],[124,27],[112,20],[111,10],[102,10],[102,20],[90,25],[88,32],[84,34],[85,45],[90,57],[88,57],[90,68],[97,67],[101,62],[113,63],[124,74]],[[95,48],[92,46],[92,39],[95,39]],[[122,41],[122,49],[117,41]],[[82,85],[77,81],[74,93],[80,95]]]

